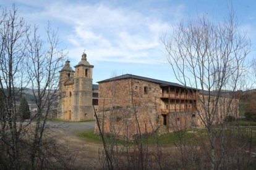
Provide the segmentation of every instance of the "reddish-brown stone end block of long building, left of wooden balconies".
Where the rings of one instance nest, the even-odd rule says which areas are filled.
[[[103,130],[119,136],[151,133],[158,127],[161,87],[139,79],[99,84],[98,117]],[[95,128],[98,132],[98,127]]]

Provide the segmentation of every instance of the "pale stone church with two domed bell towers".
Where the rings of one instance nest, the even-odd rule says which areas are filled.
[[[92,84],[93,65],[82,54],[81,61],[70,67],[69,60],[59,71],[58,118],[70,121],[94,120],[98,109],[98,85]]]

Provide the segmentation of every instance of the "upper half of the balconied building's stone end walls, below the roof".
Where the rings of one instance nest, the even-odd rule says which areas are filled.
[[[161,87],[148,81],[130,78],[102,82],[99,84],[99,110],[145,103],[156,107],[156,104],[160,105],[160,95]]]

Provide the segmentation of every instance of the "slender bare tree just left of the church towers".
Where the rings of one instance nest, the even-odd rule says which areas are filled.
[[[46,28],[47,39],[41,39],[38,28],[28,36],[27,75],[30,86],[36,99],[37,111],[35,114],[35,131],[31,155],[32,169],[36,166],[36,154],[40,154],[40,145],[46,127],[46,119],[53,113],[56,105],[59,70],[66,54],[59,48],[57,33],[51,30],[48,23]]]

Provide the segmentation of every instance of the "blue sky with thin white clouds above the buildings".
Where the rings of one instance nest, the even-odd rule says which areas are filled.
[[[256,1],[85,1],[0,0],[41,30],[51,22],[74,68],[83,52],[93,68],[93,83],[114,75],[132,74],[177,83],[166,60],[164,34],[181,20],[207,14],[223,20],[233,6],[239,28],[256,44]],[[44,31],[41,31],[44,36]],[[252,52],[248,62],[255,55]]]

